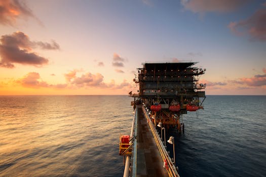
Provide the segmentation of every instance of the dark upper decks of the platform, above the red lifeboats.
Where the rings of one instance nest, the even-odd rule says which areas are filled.
[[[201,97],[198,83],[205,69],[193,67],[197,62],[143,63],[138,68],[140,97]]]

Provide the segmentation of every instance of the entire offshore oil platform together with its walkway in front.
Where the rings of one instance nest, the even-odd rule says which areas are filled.
[[[139,84],[139,90],[137,94],[129,93],[134,98],[131,134],[120,137],[124,176],[179,176],[174,137],[167,132],[176,128],[184,133],[182,115],[204,109],[202,90],[206,83],[199,79],[206,69],[194,67],[196,63],[146,62],[137,68],[133,81]],[[173,158],[166,142],[173,145]]]

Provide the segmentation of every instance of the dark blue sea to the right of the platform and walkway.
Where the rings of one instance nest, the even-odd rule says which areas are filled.
[[[207,96],[204,105],[183,115],[180,176],[266,176],[266,96]]]

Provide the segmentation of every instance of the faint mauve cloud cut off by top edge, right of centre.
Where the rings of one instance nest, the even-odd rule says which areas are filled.
[[[249,0],[181,0],[183,7],[194,13],[231,12],[243,6]]]

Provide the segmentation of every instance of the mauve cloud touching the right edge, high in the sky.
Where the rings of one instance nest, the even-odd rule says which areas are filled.
[[[266,9],[257,10],[246,20],[231,22],[228,27],[236,35],[248,34],[251,40],[266,41]]]

